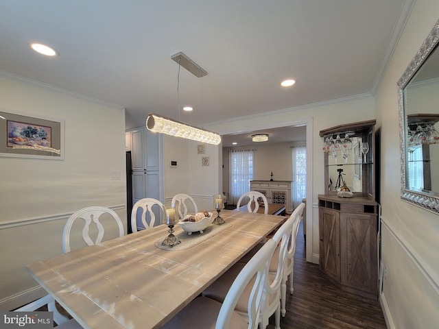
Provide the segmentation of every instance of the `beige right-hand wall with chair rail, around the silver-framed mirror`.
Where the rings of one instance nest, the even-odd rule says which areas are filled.
[[[375,99],[381,135],[381,302],[389,328],[437,328],[439,217],[400,199],[396,82],[438,19],[439,2],[417,0]],[[437,113],[437,111],[436,111]]]

